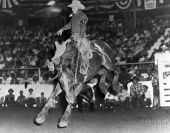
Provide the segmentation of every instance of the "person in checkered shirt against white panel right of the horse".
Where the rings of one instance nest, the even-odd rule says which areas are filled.
[[[137,77],[133,77],[132,85],[130,86],[130,96],[133,107],[141,107],[142,106],[142,95],[141,92],[143,90],[143,85],[139,83]]]

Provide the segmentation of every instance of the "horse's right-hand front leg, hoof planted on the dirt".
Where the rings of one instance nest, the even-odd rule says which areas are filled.
[[[67,108],[58,123],[58,126],[63,128],[63,127],[67,127],[69,124],[69,121],[70,121],[69,119],[70,119],[71,110],[72,110],[71,107],[72,107],[72,104],[75,102],[76,96],[81,91],[82,84],[81,83],[77,84],[73,90],[72,84],[65,74],[63,75],[62,81],[63,81],[63,90],[65,90],[66,92],[65,97],[68,102]]]

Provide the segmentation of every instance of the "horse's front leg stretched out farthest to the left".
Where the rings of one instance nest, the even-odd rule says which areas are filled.
[[[60,85],[58,83],[58,85],[53,89],[50,97],[48,98],[47,103],[42,108],[41,112],[38,113],[37,117],[35,118],[36,124],[41,125],[45,122],[49,109],[55,107],[55,103],[56,103],[55,97],[58,96],[61,92],[62,92],[62,90],[61,90]]]

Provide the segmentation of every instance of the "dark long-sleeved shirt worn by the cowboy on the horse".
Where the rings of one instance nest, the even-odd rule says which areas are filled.
[[[71,21],[66,24],[62,29],[68,30],[71,29],[72,35],[79,34],[81,38],[85,36],[86,33],[86,23],[88,22],[87,16],[79,10],[76,14],[74,14],[71,18]]]

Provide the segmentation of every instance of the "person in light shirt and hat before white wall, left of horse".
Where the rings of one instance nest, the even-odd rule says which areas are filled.
[[[33,89],[29,89],[29,94],[26,98],[26,104],[27,107],[33,107],[33,105],[35,104],[35,95],[33,93]]]

